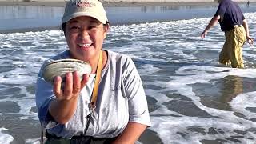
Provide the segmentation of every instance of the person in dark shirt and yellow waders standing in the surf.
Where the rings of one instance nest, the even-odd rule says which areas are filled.
[[[250,45],[253,44],[246,18],[237,3],[231,0],[218,0],[218,3],[218,10],[208,26],[206,26],[206,29],[203,30],[201,38],[205,38],[208,30],[219,22],[226,38],[219,54],[219,62],[224,65],[229,65],[231,62],[232,67],[243,68],[242,46],[246,39]]]

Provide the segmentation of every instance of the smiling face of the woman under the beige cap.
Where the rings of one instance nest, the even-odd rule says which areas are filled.
[[[98,58],[108,28],[108,24],[103,26],[97,19],[86,16],[66,22],[65,37],[71,58],[86,62]]]

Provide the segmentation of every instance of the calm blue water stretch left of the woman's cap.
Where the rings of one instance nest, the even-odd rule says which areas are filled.
[[[62,7],[0,6],[0,32],[1,30],[58,26],[62,14]]]

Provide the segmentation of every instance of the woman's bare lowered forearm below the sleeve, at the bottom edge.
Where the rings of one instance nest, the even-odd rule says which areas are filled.
[[[112,144],[134,144],[143,131],[146,130],[146,127],[146,125],[140,123],[128,122],[126,129],[118,135]]]

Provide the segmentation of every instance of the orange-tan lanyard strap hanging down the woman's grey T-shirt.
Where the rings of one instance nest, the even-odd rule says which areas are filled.
[[[92,118],[91,115],[96,108],[96,101],[97,101],[97,96],[98,96],[98,84],[101,79],[101,75],[102,75],[102,51],[99,54],[98,66],[97,66],[97,71],[96,71],[96,79],[94,82],[94,90],[93,90],[92,98],[90,100],[90,114],[88,114],[86,116],[87,123],[86,123],[86,129],[85,129],[84,134],[86,134],[86,131],[88,130],[88,127],[89,127],[89,124],[90,124],[90,121]]]

